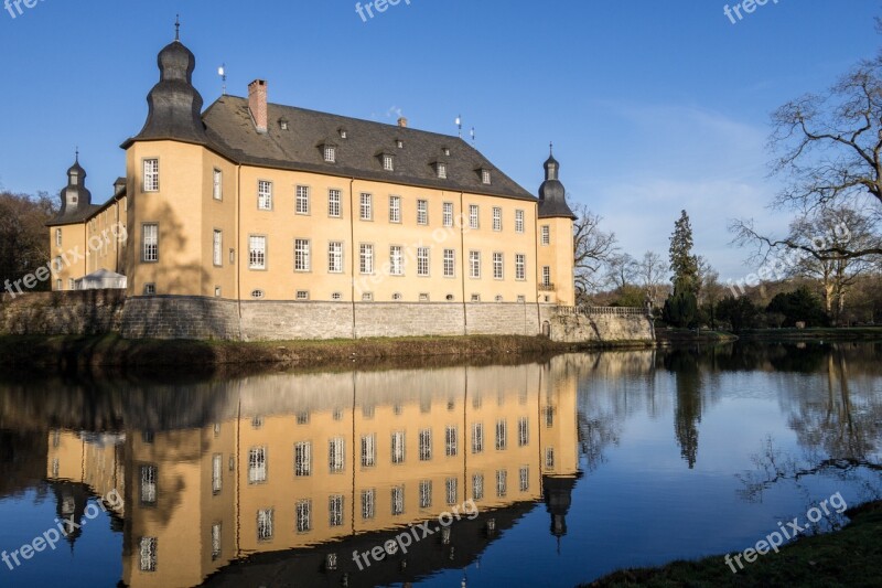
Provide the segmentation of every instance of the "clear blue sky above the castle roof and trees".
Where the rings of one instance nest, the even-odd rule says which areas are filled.
[[[778,233],[788,223],[766,210],[777,190],[770,113],[882,41],[882,4],[867,0],[770,0],[736,24],[723,0],[405,1],[367,22],[349,0],[2,10],[0,186],[57,193],[79,146],[95,201],[106,200],[180,12],[206,106],[225,63],[235,95],[262,77],[271,101],[388,122],[401,113],[449,133],[462,114],[477,148],[534,193],[553,140],[571,199],[604,216],[625,250],[666,256],[686,209],[696,252],[739,278],[755,268],[729,245],[729,220]]]

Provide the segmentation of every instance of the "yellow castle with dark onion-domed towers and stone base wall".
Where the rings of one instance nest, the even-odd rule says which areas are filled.
[[[574,303],[553,157],[536,197],[462,138],[272,104],[262,79],[203,111],[179,39],[159,68],[114,196],[92,204],[77,161],[50,223],[53,255],[88,252],[54,289],[126,276],[123,335],[538,334]]]

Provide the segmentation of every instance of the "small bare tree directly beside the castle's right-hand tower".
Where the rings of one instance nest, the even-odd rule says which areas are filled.
[[[578,217],[573,223],[573,265],[576,288],[579,298],[600,289],[602,272],[611,256],[617,252],[615,233],[601,229],[603,218],[593,214],[585,204],[578,204],[573,212]]]

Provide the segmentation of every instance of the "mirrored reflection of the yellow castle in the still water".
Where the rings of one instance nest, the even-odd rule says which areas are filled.
[[[49,477],[125,494],[129,586],[410,581],[465,567],[537,501],[566,534],[579,469],[567,361],[215,384],[201,428],[146,416],[154,430],[51,431]],[[357,570],[354,549],[470,499],[475,521]]]

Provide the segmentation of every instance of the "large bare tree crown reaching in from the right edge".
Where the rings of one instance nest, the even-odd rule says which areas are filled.
[[[882,255],[882,53],[843,76],[825,95],[805,95],[772,116],[770,148],[773,173],[786,186],[773,207],[790,209],[802,217],[822,217],[843,207],[874,227],[873,237],[824,247],[790,238],[761,235],[752,221],[736,221],[736,242],[754,242],[771,249],[802,250],[818,261],[838,261]]]

